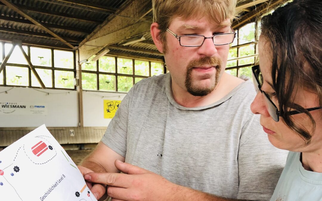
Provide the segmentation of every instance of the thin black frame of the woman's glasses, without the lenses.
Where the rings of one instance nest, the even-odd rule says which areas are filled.
[[[272,119],[276,122],[279,122],[279,117],[281,115],[294,115],[294,114],[301,114],[301,113],[304,113],[304,112],[299,112],[297,110],[292,110],[292,111],[287,111],[287,112],[283,112],[283,110],[278,110],[278,108],[276,107],[276,105],[273,103],[273,101],[270,99],[270,96],[263,90],[261,90],[261,85],[260,85],[260,81],[258,80],[258,77],[256,76],[256,73],[255,73],[255,70],[259,70],[260,71],[260,65],[255,65],[253,67],[251,67],[251,71],[252,71],[252,76],[253,76],[253,84],[254,84],[254,87],[255,87],[255,91],[256,90],[256,87],[259,89],[259,91],[264,94],[264,96],[266,96],[267,100],[269,100],[269,103],[276,109],[276,117],[277,118],[277,121],[276,119],[272,117]],[[254,80],[255,79],[255,80]],[[255,84],[255,81],[257,82],[257,86]],[[322,106],[319,106],[319,107],[311,107],[311,108],[305,108],[305,110],[307,110],[308,112],[310,111],[314,111],[314,110],[319,110],[319,109],[322,109]]]

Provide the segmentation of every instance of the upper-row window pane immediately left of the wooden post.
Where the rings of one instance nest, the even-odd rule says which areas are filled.
[[[71,51],[54,50],[54,66],[55,68],[74,68],[74,53]]]

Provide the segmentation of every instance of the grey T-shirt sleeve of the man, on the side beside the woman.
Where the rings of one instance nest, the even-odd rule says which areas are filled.
[[[253,115],[242,129],[238,152],[238,199],[270,200],[288,151],[274,147]]]

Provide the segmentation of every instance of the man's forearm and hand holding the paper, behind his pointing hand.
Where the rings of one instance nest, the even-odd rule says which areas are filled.
[[[78,169],[83,176],[90,172],[119,172],[114,165],[115,160],[125,161],[125,158],[110,149],[104,143],[99,142],[95,150],[81,162]],[[106,185],[93,184],[92,182],[86,182],[86,184],[96,199],[102,197],[106,192]]]

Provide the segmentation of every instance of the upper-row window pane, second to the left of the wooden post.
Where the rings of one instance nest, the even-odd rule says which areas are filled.
[[[30,59],[34,66],[52,67],[52,50],[30,47]]]

